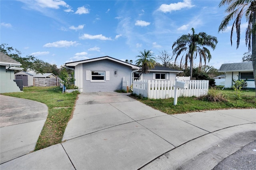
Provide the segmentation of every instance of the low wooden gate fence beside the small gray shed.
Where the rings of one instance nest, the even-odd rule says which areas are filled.
[[[38,87],[59,86],[60,78],[34,78],[33,85]]]

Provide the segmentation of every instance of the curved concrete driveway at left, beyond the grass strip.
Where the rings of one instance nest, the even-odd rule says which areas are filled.
[[[36,101],[0,95],[0,163],[33,151],[48,115]]]

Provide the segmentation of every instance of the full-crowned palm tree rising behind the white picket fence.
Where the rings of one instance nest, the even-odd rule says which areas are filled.
[[[192,79],[193,60],[196,59],[197,55],[200,57],[199,67],[202,67],[202,59],[204,65],[206,65],[206,59],[208,62],[212,58],[210,50],[205,46],[215,49],[218,40],[214,36],[207,35],[205,32],[195,34],[194,28],[191,28],[192,34],[182,35],[176,42],[172,44],[173,54],[176,55],[175,63],[179,55],[182,55],[182,59],[185,60],[185,69],[188,67],[188,60],[190,61],[190,78]],[[174,48],[175,47],[175,48]],[[184,58],[185,57],[185,58]]]

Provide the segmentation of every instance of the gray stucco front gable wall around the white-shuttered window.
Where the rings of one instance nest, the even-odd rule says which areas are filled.
[[[86,71],[105,71],[104,82],[92,82],[86,80]],[[109,71],[109,80],[106,80],[106,72]],[[116,74],[115,74],[116,71]],[[132,68],[108,59],[83,63],[83,92],[100,92],[100,91],[115,91],[122,89],[123,77],[128,80],[130,85]],[[88,79],[88,77],[87,77]]]

